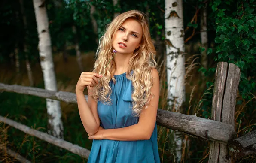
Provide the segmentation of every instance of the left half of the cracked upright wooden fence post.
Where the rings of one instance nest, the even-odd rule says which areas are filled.
[[[219,62],[217,65],[215,76],[215,84],[213,89],[213,103],[211,111],[211,119],[215,121],[221,121],[222,101],[225,91],[227,72],[228,63]],[[218,142],[210,142],[209,163],[219,163],[219,151],[220,144]]]

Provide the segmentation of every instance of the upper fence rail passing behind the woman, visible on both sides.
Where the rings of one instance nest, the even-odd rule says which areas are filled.
[[[37,97],[54,100],[61,100],[67,103],[77,103],[76,94],[70,92],[55,92],[41,88],[26,87],[20,85],[6,85],[3,83],[0,83],[0,90],[15,92],[19,94],[34,95]],[[159,126],[163,126],[172,130],[179,130],[190,136],[195,136],[204,140],[220,142],[225,145],[228,143],[230,134],[233,132],[232,125],[230,124],[200,118],[195,115],[185,115],[162,109],[158,109],[156,122]]]

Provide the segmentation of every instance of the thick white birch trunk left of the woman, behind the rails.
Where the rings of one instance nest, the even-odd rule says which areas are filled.
[[[46,90],[57,91],[57,84],[52,61],[51,37],[49,21],[46,13],[45,1],[33,0],[39,38],[40,64]],[[63,139],[63,124],[61,121],[61,107],[57,100],[46,99],[47,114],[49,116],[49,133]]]

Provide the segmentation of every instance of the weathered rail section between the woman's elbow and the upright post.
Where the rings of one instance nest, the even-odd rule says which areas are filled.
[[[227,144],[232,131],[230,124],[160,109],[158,109],[156,121],[160,126],[223,144]]]

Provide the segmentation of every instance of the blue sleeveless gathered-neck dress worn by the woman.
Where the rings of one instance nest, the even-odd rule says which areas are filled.
[[[98,115],[101,127],[115,129],[138,123],[132,115],[132,82],[126,72],[114,75],[116,84],[110,81],[112,104],[98,101]],[[96,140],[92,142],[88,163],[160,163],[157,145],[157,127],[149,140],[116,141]]]

